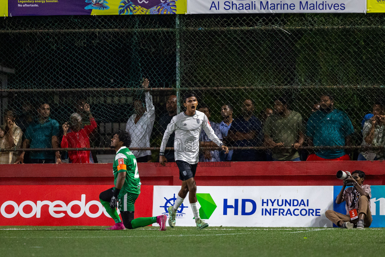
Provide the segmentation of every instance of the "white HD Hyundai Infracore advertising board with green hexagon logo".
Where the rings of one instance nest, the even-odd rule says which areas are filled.
[[[154,186],[153,215],[168,215],[180,186]],[[333,186],[198,186],[199,215],[211,226],[331,227]],[[194,226],[188,202],[177,210],[178,226]]]

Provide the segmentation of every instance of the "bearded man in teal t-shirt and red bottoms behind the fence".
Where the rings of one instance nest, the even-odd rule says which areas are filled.
[[[320,110],[311,114],[307,127],[308,145],[349,146],[354,129],[348,115],[334,109],[333,97],[320,97]],[[306,161],[350,161],[343,149],[322,149],[308,156]]]

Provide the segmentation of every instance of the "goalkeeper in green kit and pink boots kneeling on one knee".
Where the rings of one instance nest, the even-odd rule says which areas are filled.
[[[121,230],[146,227],[158,223],[159,230],[166,230],[166,215],[147,218],[134,218],[134,203],[141,193],[141,180],[134,154],[127,148],[131,144],[131,135],[126,131],[119,131],[111,139],[111,148],[115,148],[116,155],[113,165],[114,187],[100,193],[100,202],[107,213],[115,220],[115,225],[108,230]],[[116,208],[122,216],[121,221]]]

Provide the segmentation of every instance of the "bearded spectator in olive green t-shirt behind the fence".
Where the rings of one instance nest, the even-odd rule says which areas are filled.
[[[269,146],[293,146],[294,149],[272,149],[274,161],[301,161],[298,147],[305,139],[301,114],[288,109],[283,97],[274,101],[274,114],[266,119],[264,139]]]

